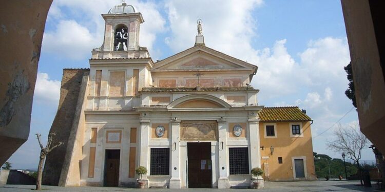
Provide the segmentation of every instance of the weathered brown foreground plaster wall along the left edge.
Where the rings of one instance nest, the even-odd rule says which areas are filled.
[[[37,63],[51,3],[2,1],[0,6],[0,164],[29,135]]]

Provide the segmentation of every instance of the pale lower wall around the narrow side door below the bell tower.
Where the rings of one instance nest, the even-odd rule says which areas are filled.
[[[136,147],[138,149],[138,140],[136,143],[130,143],[131,128],[139,129],[139,115],[86,115],[86,130],[83,145],[83,160],[82,160],[82,172],[81,172],[81,184],[82,185],[96,185],[103,186],[104,182],[104,164],[105,164],[105,150],[120,150],[120,172],[119,183],[122,186],[132,185],[136,181],[136,178],[129,178],[129,155],[130,148]],[[91,131],[92,128],[97,128],[97,142],[91,143]],[[108,134],[120,133],[120,141],[109,141]],[[135,138],[139,138],[139,133]],[[94,174],[93,177],[89,177],[89,161],[90,161],[90,148],[96,147],[95,161],[94,161]],[[132,153],[132,152],[131,152]],[[137,150],[136,156],[138,159]],[[137,163],[137,160],[134,161]],[[137,166],[134,166],[137,167]],[[137,177],[135,175],[135,177]]]

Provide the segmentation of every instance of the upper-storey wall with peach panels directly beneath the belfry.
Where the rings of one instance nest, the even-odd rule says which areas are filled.
[[[98,73],[101,73],[101,77]],[[92,67],[87,110],[132,110],[132,106],[140,102],[136,90],[148,86],[148,74],[145,66]],[[101,78],[100,83],[98,78]]]

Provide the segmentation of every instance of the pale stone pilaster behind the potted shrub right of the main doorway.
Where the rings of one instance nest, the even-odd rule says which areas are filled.
[[[248,120],[248,133],[250,133],[250,170],[254,167],[261,167],[261,151],[260,151],[260,140],[259,140],[259,119],[249,119]],[[255,179],[251,180],[251,186]],[[261,180],[262,178],[258,178]],[[262,182],[263,185],[263,182]],[[263,186],[262,186],[263,187]]]

